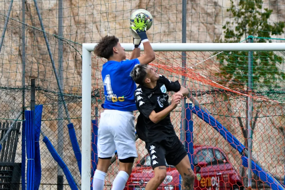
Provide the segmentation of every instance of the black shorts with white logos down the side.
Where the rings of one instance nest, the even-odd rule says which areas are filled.
[[[180,139],[166,137],[161,141],[146,143],[146,149],[151,159],[152,168],[168,165],[176,166],[187,155],[187,152]]]

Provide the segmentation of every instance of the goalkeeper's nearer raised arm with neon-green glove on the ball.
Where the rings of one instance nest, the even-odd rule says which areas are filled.
[[[143,17],[145,16],[143,15]],[[154,51],[146,35],[146,25],[148,24],[148,20],[145,18],[141,18],[141,15],[139,15],[134,20],[134,22],[135,22],[135,25],[131,25],[131,30],[132,32],[136,33],[141,38],[141,43],[143,43],[143,47],[144,47],[144,55],[138,57],[138,59],[139,59],[140,64],[146,65],[155,59]]]

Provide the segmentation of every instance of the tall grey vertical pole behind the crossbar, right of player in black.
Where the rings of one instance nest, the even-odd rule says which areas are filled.
[[[186,12],[187,12],[187,0],[182,0],[182,43],[186,43]],[[182,68],[186,69],[186,52],[182,52]],[[182,76],[182,86],[186,86],[185,84],[185,76]],[[186,98],[182,100],[181,107],[181,142],[185,146],[185,129],[186,129],[186,121],[185,121],[185,104]]]

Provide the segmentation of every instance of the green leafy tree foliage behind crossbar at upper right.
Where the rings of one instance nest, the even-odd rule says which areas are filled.
[[[249,35],[271,38],[272,35],[282,34],[285,30],[284,22],[269,22],[272,10],[262,10],[262,0],[240,0],[235,6],[231,0],[231,6],[227,12],[231,13],[233,22],[227,21],[223,26],[224,39],[217,42],[240,42]],[[235,26],[233,29],[230,26]],[[271,42],[271,40],[257,38],[254,43]],[[219,83],[235,88],[244,88],[248,80],[248,55],[249,52],[223,52],[217,56],[221,65],[215,75],[220,79]],[[284,64],[284,57],[276,55],[273,51],[253,52],[253,80],[255,86],[278,86],[279,80],[285,79],[284,71],[279,65]]]

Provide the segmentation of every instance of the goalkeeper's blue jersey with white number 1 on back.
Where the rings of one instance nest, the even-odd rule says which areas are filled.
[[[104,83],[105,102],[103,108],[119,111],[137,110],[134,92],[137,88],[130,76],[139,59],[107,61],[101,71]]]

